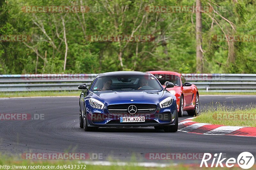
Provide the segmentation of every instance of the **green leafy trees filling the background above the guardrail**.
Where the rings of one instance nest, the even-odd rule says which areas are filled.
[[[82,4],[81,4],[82,2]],[[202,13],[206,73],[255,73],[255,42],[216,41],[216,35],[256,35],[254,0],[202,0],[220,14]],[[147,6],[193,6],[188,0],[0,0],[0,35],[33,41],[0,42],[0,74],[99,73],[117,70],[196,72],[195,13],[157,13]],[[80,6],[86,13],[26,13],[24,6]],[[223,8],[221,8],[223,7]],[[98,11],[97,11],[98,10]],[[212,18],[215,21],[212,22]],[[234,29],[223,18],[232,22]],[[64,25],[65,30],[64,30]],[[218,22],[218,24],[216,23]],[[67,65],[63,70],[67,38]],[[151,35],[150,42],[92,42],[91,35]],[[160,38],[159,38],[160,37]],[[36,54],[37,52],[37,54]],[[38,62],[36,58],[38,57]]]

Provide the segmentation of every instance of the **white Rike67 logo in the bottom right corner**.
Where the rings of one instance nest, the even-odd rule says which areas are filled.
[[[223,164],[227,158],[221,159],[221,155],[222,155],[222,153],[220,153],[220,154],[215,153],[214,158],[212,159],[211,153],[204,153],[200,167],[203,167],[203,165],[205,165],[205,167],[208,167],[207,161],[209,161],[210,159],[212,159],[212,164],[210,167],[214,167],[214,165],[215,165],[215,167],[218,167],[218,166],[224,167]],[[215,163],[216,159],[217,159],[217,161]],[[224,165],[226,165],[226,167],[230,168],[230,167],[233,167],[235,164],[238,164],[243,169],[249,169],[254,165],[254,156],[250,152],[242,152],[238,155],[237,159],[235,159],[235,158],[227,159],[226,164],[224,164]]]

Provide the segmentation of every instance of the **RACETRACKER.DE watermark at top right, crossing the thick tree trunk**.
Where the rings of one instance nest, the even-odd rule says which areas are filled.
[[[147,6],[147,12],[192,13],[192,12],[227,12],[226,6]]]

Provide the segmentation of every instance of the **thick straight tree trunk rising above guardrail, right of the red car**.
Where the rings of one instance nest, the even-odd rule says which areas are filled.
[[[196,0],[196,7],[202,6],[201,0]],[[202,13],[196,12],[196,72],[202,73],[203,52],[202,52]]]

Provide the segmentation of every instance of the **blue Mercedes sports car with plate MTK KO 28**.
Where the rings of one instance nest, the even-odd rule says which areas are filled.
[[[81,84],[80,128],[155,127],[178,130],[176,97],[163,88],[154,75],[137,71],[101,73],[91,85]]]

